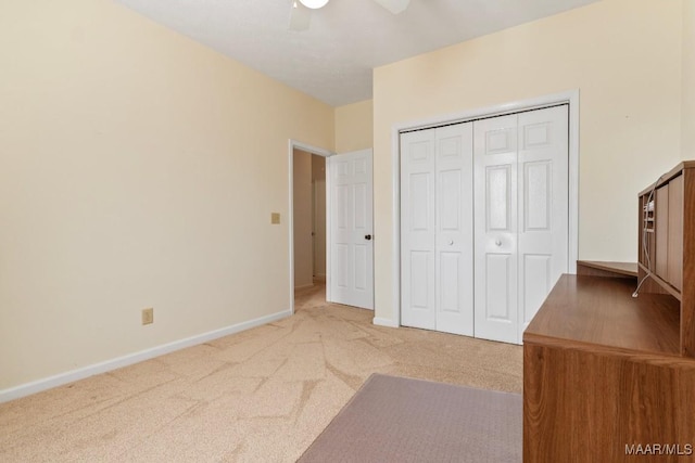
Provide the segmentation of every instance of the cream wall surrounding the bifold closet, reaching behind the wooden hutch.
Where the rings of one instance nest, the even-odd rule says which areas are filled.
[[[392,319],[394,124],[579,89],[579,256],[635,261],[636,194],[680,159],[681,16],[605,0],[375,69],[376,317]]]

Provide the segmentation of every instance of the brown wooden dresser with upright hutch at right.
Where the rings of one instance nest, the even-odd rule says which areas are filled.
[[[639,297],[563,275],[523,334],[525,462],[695,461],[695,162],[639,205]]]

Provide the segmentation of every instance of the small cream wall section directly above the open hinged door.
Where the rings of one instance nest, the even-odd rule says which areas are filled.
[[[348,104],[336,108],[336,152],[372,147],[372,101]]]

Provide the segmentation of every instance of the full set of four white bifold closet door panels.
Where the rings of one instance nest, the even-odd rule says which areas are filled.
[[[520,343],[568,269],[568,106],[401,136],[402,324]]]

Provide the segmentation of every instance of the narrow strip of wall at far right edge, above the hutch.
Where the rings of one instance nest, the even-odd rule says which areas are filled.
[[[683,159],[695,159],[695,1],[683,0]]]

